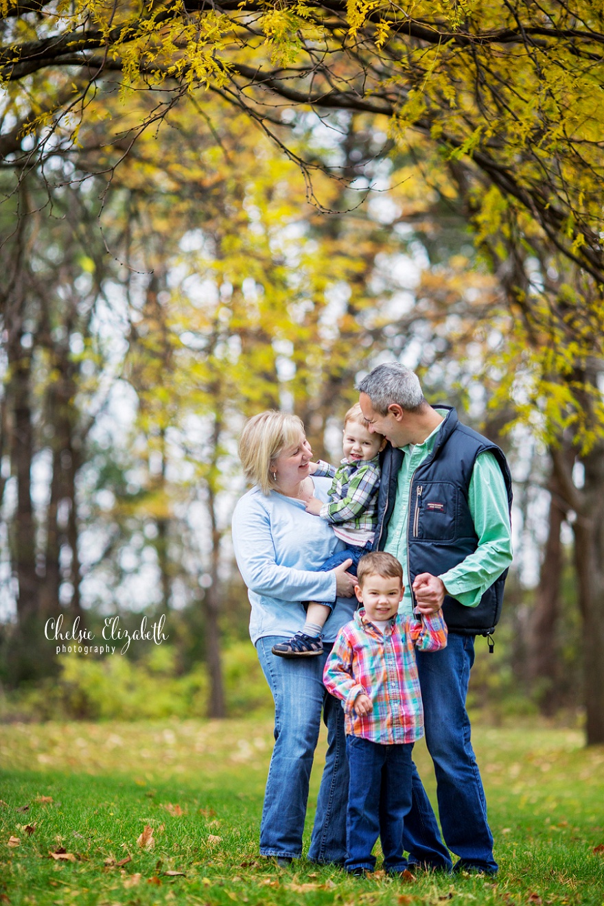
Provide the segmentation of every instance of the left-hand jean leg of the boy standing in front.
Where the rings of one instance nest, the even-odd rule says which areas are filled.
[[[360,737],[346,737],[346,752],[350,769],[348,812],[346,815],[346,868],[366,868],[376,865],[371,855],[379,837],[379,792],[385,746]]]

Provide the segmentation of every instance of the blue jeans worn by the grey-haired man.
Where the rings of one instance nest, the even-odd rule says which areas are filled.
[[[442,651],[416,654],[426,742],[434,761],[438,814],[446,846],[459,856],[455,871],[478,869],[494,874],[493,835],[465,710],[474,638],[450,632]],[[405,821],[403,844],[409,863],[451,869],[449,853],[415,766],[413,805]]]

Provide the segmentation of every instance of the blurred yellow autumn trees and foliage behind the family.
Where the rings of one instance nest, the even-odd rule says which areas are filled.
[[[560,109],[543,101],[549,167],[535,124],[523,124],[532,108],[506,108],[495,91],[475,98],[465,83],[458,56],[478,27],[469,9],[451,24],[464,41],[445,53],[426,31],[409,25],[406,37],[387,16],[380,32],[370,5],[350,5],[358,53],[343,53],[338,29],[326,39],[336,61],[327,110],[291,90],[303,81],[296,54],[320,46],[299,21],[310,15],[303,5],[231,11],[248,16],[236,84],[213,63],[226,44],[206,53],[206,13],[187,19],[192,72],[185,33],[170,43],[181,12],[153,6],[139,36],[128,33],[134,43],[120,33],[113,64],[96,60],[95,75],[91,60],[60,59],[61,42],[54,62],[23,57],[53,29],[83,28],[84,48],[80,7],[44,17],[9,4],[0,17],[5,48],[18,45],[23,60],[0,54],[0,718],[269,708],[229,541],[244,491],[237,436],[249,415],[283,407],[304,421],[315,456],[337,461],[355,381],[398,359],[417,369],[429,401],[457,405],[499,443],[513,471],[515,564],[494,654],[476,643],[471,707],[495,721],[586,719],[588,739],[604,741],[604,306],[591,242],[601,105],[570,117],[575,147],[556,131]],[[558,23],[555,6],[532,24],[543,41],[572,24]],[[597,42],[601,14],[584,6],[573,41]],[[426,7],[434,35],[452,10]],[[497,28],[501,12],[482,11]],[[195,15],[204,28],[193,47]],[[561,15],[572,19],[567,5]],[[580,93],[585,73],[561,81],[569,60],[587,60],[601,88],[601,61],[579,43],[552,45],[559,66],[539,74],[541,44],[506,33],[500,45],[487,26],[473,65],[501,64],[502,92],[506,79],[530,84],[537,72],[543,97],[547,79],[552,97]],[[137,56],[149,34],[157,59],[173,52],[180,68],[166,74],[150,51]],[[390,72],[389,48],[405,41],[407,69]],[[346,80],[368,47],[383,82],[357,104]],[[434,53],[422,74],[417,61]],[[259,92],[257,66],[245,70],[252,60],[276,67],[272,93]],[[569,206],[555,224],[554,196]],[[168,641],[95,658],[57,656],[44,636],[62,615],[64,631],[77,619],[99,643],[111,614],[130,631],[142,614],[164,614]]]

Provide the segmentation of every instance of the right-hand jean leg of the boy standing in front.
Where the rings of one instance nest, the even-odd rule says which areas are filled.
[[[382,767],[379,795],[379,839],[387,872],[404,872],[403,857],[405,816],[411,808],[411,752],[413,743],[384,746],[386,760]]]

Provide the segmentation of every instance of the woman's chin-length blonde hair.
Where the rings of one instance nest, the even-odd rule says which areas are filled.
[[[239,439],[239,458],[244,476],[263,494],[277,487],[273,478],[273,461],[283,449],[297,444],[304,426],[297,415],[268,410],[245,422]]]

